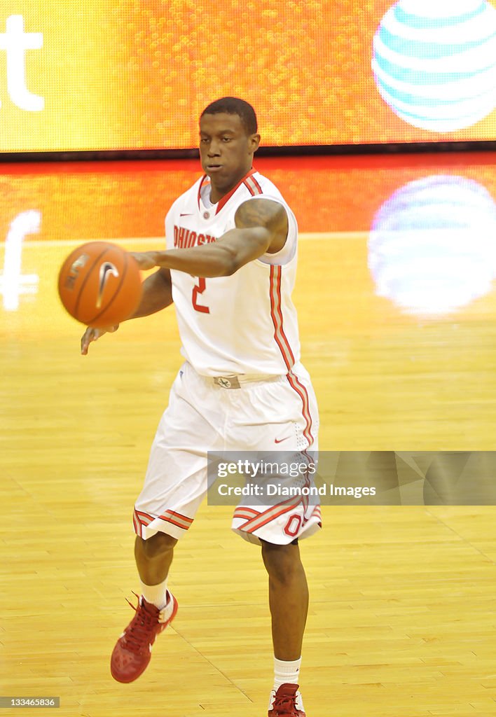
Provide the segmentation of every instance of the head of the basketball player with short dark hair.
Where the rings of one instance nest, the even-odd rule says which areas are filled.
[[[251,169],[258,148],[256,114],[244,100],[215,100],[200,115],[200,158],[212,181],[212,201],[228,194]]]

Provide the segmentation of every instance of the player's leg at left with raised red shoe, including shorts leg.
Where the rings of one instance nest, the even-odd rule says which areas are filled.
[[[118,682],[132,682],[144,672],[156,636],[177,613],[167,577],[174,547],[192,525],[206,493],[206,451],[217,438],[215,423],[196,409],[204,388],[191,367],[183,366],[151,447],[133,516],[141,595],[136,614],[112,653],[111,673]],[[205,441],[204,452],[198,450],[199,436]]]

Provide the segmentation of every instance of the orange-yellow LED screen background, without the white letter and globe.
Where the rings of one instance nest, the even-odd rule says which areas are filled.
[[[256,108],[265,146],[491,140],[496,111],[438,134],[398,118],[378,94],[372,42],[392,0],[4,0],[6,19],[42,33],[25,52],[19,109],[0,49],[0,151],[192,148],[197,117],[223,95]],[[492,1],[495,4],[495,1]]]

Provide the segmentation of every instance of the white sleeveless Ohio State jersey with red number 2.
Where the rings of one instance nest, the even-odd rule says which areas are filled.
[[[215,242],[235,228],[238,206],[257,197],[284,206],[289,232],[281,252],[248,262],[232,276],[203,279],[171,270],[181,353],[203,376],[287,374],[300,358],[291,302],[298,239],[294,214],[279,189],[253,169],[215,205],[202,199],[208,182],[203,176],[172,204],[165,220],[167,249]],[[278,264],[283,256],[289,260]]]

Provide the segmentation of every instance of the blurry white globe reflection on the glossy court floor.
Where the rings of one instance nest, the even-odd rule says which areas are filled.
[[[376,293],[406,313],[462,308],[488,293],[496,276],[494,199],[462,176],[406,184],[375,214],[368,264]]]

